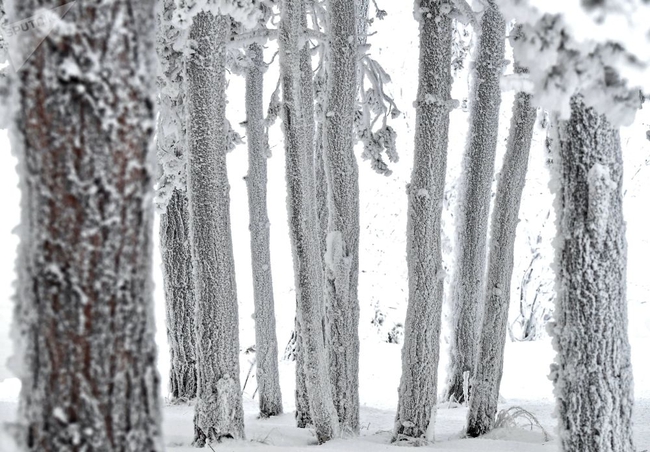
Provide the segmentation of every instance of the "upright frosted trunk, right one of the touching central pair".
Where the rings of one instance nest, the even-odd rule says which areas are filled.
[[[354,155],[357,98],[356,4],[329,0],[325,172],[328,233],[325,285],[334,405],[343,433],[359,433],[359,169]]]

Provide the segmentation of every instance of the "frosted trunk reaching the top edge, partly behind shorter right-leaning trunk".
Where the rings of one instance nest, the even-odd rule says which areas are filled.
[[[494,158],[499,132],[505,22],[493,0],[481,18],[471,116],[457,215],[456,269],[451,283],[452,334],[445,399],[465,401],[463,380],[478,353]]]

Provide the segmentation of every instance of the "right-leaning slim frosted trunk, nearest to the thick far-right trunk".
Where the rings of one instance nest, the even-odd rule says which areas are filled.
[[[473,437],[489,432],[494,426],[497,413],[508,328],[515,236],[536,117],[537,111],[531,105],[531,96],[517,93],[492,212],[485,311],[467,415],[467,434]]]

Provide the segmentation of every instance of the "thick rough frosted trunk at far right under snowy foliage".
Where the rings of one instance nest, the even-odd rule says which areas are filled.
[[[562,450],[632,452],[623,159],[618,130],[571,101],[556,166],[557,303],[552,368]]]

